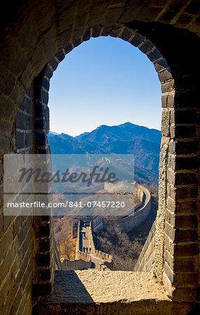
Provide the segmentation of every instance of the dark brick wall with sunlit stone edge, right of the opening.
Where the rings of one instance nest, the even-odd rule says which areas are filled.
[[[143,31],[143,34],[149,34],[145,25]],[[171,66],[173,76],[171,79],[164,78],[162,83],[164,113],[155,273],[158,279],[164,281],[164,286],[173,299],[189,301],[198,299],[199,287],[199,121],[198,106],[195,102],[198,87],[193,64],[197,52],[192,50],[196,45],[199,47],[199,38],[170,27],[167,33],[168,36],[162,26],[155,34],[151,32],[149,37],[157,43],[161,52],[165,50],[166,61]],[[159,40],[155,39],[158,35]],[[173,43],[174,55],[166,41],[169,36]],[[174,64],[171,64],[171,59],[174,59]]]

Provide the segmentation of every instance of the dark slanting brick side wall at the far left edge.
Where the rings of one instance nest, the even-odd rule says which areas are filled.
[[[31,314],[31,285],[34,269],[32,216],[3,216],[3,153],[35,153],[33,86],[15,109],[10,134],[1,134],[0,206],[0,310],[2,314]],[[16,165],[17,167],[17,165]],[[10,169],[15,174],[16,169]],[[1,312],[1,311],[0,311]]]

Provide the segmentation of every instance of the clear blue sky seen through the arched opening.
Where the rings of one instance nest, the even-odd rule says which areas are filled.
[[[73,49],[50,80],[50,130],[76,136],[129,121],[160,130],[161,85],[138,48],[91,38]]]

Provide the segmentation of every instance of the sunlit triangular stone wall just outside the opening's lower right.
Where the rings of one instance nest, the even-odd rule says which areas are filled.
[[[148,238],[134,267],[135,272],[153,272],[155,264],[155,232],[156,221],[153,223]]]

